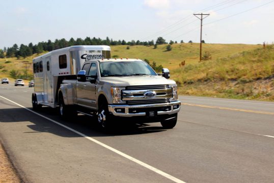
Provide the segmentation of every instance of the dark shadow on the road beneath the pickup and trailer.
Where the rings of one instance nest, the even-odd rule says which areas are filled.
[[[0,109],[0,123],[21,122],[31,129],[25,130],[23,133],[51,133],[62,137],[82,137],[66,128],[71,128],[89,137],[138,135],[159,133],[166,130],[155,125],[157,123],[134,124],[120,121],[115,121],[115,125],[109,130],[102,130],[97,125],[97,117],[78,115],[75,119],[63,120],[58,115],[57,109],[48,107],[43,107],[37,113],[49,119],[23,108]]]

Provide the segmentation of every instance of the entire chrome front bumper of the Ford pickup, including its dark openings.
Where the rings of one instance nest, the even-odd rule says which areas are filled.
[[[181,108],[180,101],[172,101],[169,103],[153,103],[140,105],[124,105],[111,104],[108,105],[109,113],[120,117],[134,117],[134,116],[159,116],[171,115],[178,113]]]

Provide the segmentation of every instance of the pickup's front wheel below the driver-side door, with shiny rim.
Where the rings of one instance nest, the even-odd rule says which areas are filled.
[[[109,112],[106,101],[99,104],[98,124],[102,129],[107,129],[109,127]]]

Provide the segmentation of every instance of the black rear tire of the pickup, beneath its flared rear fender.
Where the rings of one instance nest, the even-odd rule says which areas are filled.
[[[59,114],[65,120],[73,120],[77,116],[73,107],[65,104],[63,94],[59,95]]]

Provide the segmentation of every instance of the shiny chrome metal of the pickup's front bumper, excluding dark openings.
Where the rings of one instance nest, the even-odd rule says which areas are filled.
[[[177,109],[173,109],[174,106],[178,105]],[[161,107],[170,107],[169,111],[158,111],[157,108],[161,108]],[[111,104],[108,105],[108,111],[109,113],[113,114],[114,116],[120,116],[120,117],[134,117],[134,116],[146,116],[147,113],[146,112],[135,112],[135,113],[130,113],[129,111],[131,109],[136,109],[136,111],[138,110],[146,110],[146,111],[150,111],[149,108],[151,108],[151,111],[156,111],[157,115],[164,115],[164,114],[175,114],[178,113],[180,111],[181,108],[181,101],[172,101],[169,103],[154,103],[154,104],[141,104],[141,105],[115,105],[115,104]],[[122,109],[124,110],[124,112],[117,112],[117,109]]]

